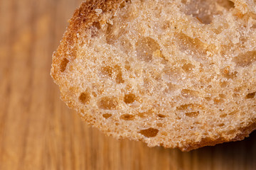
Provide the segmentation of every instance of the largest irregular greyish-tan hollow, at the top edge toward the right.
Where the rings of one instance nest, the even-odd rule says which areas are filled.
[[[210,24],[214,15],[221,15],[224,10],[234,8],[234,3],[228,0],[182,0],[181,2],[185,4],[182,10],[184,13],[192,15],[198,22],[204,24]]]

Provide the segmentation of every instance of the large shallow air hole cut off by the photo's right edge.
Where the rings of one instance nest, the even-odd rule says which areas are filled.
[[[240,67],[247,67],[256,61],[256,51],[249,51],[242,54],[239,54],[237,57],[233,58],[233,62]]]

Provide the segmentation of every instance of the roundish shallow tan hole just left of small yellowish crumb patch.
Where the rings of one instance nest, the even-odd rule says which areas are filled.
[[[159,44],[149,37],[142,37],[136,43],[136,52],[139,60],[150,62],[152,60],[153,52],[159,50]]]

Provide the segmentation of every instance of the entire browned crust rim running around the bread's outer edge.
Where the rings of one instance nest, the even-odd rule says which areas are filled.
[[[83,36],[83,38],[86,37],[85,30],[93,29],[95,27],[95,23],[102,21],[103,14],[110,14],[113,15],[113,13],[119,8],[120,4],[122,4],[122,0],[95,0],[95,1],[87,1],[83,2],[78,9],[75,10],[75,13],[73,14],[73,18],[69,21],[69,26],[63,35],[63,39],[60,41],[60,45],[58,47],[58,50],[53,53],[53,64],[51,68],[51,76],[53,77],[56,84],[60,86],[61,89],[65,89],[65,82],[61,80],[61,74],[65,71],[65,67],[63,69],[61,68],[62,65],[68,64],[68,62],[71,62],[75,60],[77,56],[78,51],[78,45],[81,45],[80,36]],[[95,11],[95,9],[100,8],[102,9],[102,13],[100,15]],[[97,27],[97,26],[96,26]],[[77,110],[78,108],[75,107],[75,103],[72,103],[72,98],[66,94],[61,93],[63,101],[67,103],[68,107],[74,108]],[[77,110],[78,111],[78,110]],[[82,111],[78,111],[80,113]],[[95,123],[95,120],[92,118],[90,114],[87,113],[80,113],[81,117],[85,122],[91,125],[95,125],[95,127],[101,129],[105,132],[106,135],[113,135],[112,132],[109,132],[108,130],[103,129],[100,126],[100,123]],[[256,129],[256,123],[250,123],[250,125],[247,125],[245,128],[240,128],[237,132],[235,132],[236,136],[233,137],[233,139],[225,139],[223,137],[219,137],[218,139],[213,139],[210,137],[206,137],[201,139],[199,142],[191,142],[186,143],[186,145],[183,145],[182,147],[178,147],[178,149],[181,149],[182,151],[190,151],[191,149],[197,149],[199,147],[204,146],[213,146],[219,143],[223,142],[230,142],[230,141],[236,141],[236,140],[243,140],[245,137],[247,137],[250,132]],[[120,137],[120,136],[115,136]],[[131,140],[144,140],[144,138],[139,136],[127,136]],[[164,147],[171,147],[168,145],[164,145]]]

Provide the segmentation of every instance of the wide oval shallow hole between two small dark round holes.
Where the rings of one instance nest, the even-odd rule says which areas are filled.
[[[102,97],[97,103],[98,107],[104,110],[115,110],[118,106],[118,98],[116,97]]]

